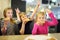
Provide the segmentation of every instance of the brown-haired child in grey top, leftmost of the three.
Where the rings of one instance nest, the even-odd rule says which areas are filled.
[[[16,9],[17,11],[17,9]],[[3,12],[4,19],[1,20],[1,32],[2,35],[17,35],[18,27],[16,21],[13,19],[13,10],[12,8],[6,8]],[[18,19],[17,19],[18,20]]]

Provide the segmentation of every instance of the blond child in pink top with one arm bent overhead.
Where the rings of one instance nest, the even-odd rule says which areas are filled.
[[[34,27],[32,30],[32,34],[48,34],[48,27],[55,26],[58,24],[57,19],[53,16],[51,10],[46,9],[48,15],[52,19],[52,21],[46,21],[45,13],[39,12],[36,16],[36,22],[34,23]]]

